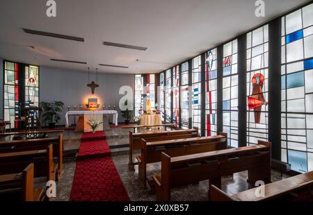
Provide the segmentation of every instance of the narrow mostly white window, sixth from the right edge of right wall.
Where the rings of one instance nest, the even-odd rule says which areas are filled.
[[[182,87],[181,87],[181,107],[182,107],[182,128],[189,128],[189,70],[188,62],[182,64]]]

